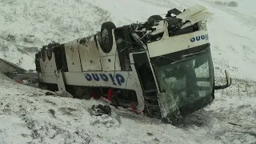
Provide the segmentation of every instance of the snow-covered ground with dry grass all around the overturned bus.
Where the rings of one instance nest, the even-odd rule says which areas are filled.
[[[212,105],[174,127],[122,111],[121,125],[113,118],[98,120],[86,110],[94,102],[46,96],[1,74],[0,143],[256,143],[256,1],[237,0],[238,6],[216,2],[0,1],[0,57],[27,70],[34,69],[34,53],[51,40],[69,42],[94,34],[102,22],[142,22],[197,3],[214,13],[208,29],[216,82],[223,82],[226,69],[234,78],[230,88],[217,91]]]

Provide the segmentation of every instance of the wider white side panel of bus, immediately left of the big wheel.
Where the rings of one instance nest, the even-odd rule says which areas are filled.
[[[82,71],[102,70],[101,58],[96,42],[94,41],[94,36],[79,39],[77,45]]]

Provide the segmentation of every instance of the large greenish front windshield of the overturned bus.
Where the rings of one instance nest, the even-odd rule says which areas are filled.
[[[160,93],[168,92],[181,113],[198,110],[214,98],[210,46],[166,54],[152,58],[151,62]]]

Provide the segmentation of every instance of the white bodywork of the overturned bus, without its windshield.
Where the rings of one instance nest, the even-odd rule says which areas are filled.
[[[170,113],[182,108],[177,104],[178,100],[165,96],[166,90],[162,90],[160,73],[158,74],[160,67],[157,68],[156,62],[158,61],[154,59],[160,58],[161,61],[164,61],[162,58],[169,57],[168,54],[177,54],[182,58],[178,57],[178,60],[170,58],[170,66],[185,62],[190,58],[194,58],[194,62],[199,62],[196,60],[198,55],[207,51],[208,59],[204,57],[202,59],[206,59],[206,62],[209,63],[209,66],[206,66],[210,79],[208,82],[210,86],[207,90],[212,90],[213,93],[210,93],[210,96],[207,96],[207,102],[199,107],[202,108],[214,99],[214,88],[212,89],[214,87],[214,72],[205,20],[211,15],[205,7],[196,5],[183,13],[180,12],[176,17],[156,19],[158,22],[154,22],[154,26],[151,26],[150,30],[146,27],[149,23],[119,28],[110,24],[105,25],[106,29],[102,25],[101,32],[90,37],[79,38],[62,45],[55,43],[51,46],[44,46],[36,54],[35,59],[39,82],[48,86],[48,89],[51,86],[58,86],[58,90],[68,90],[67,87],[69,89],[71,87],[74,88],[76,94],[78,90],[83,91],[91,87],[133,90],[137,98],[136,110],[145,111],[149,115],[154,115],[154,111],[157,110],[160,111],[159,114],[162,118],[168,118]],[[104,38],[108,39],[106,43],[104,43]],[[190,56],[190,54],[192,55]],[[145,62],[141,63],[142,61]],[[139,66],[146,66],[147,69]],[[142,72],[143,70],[145,71]],[[147,73],[149,71],[151,74]],[[143,80],[142,77],[146,78]],[[145,82],[147,79],[148,83]],[[150,84],[154,85],[154,89],[152,89],[154,92],[151,95],[150,88],[149,90],[146,88],[146,85]],[[230,86],[230,82],[224,87],[227,86]],[[218,89],[220,88],[221,86],[218,86]],[[170,102],[170,99],[173,102]],[[151,101],[154,101],[153,104],[150,104]],[[176,108],[174,108],[175,106]],[[189,114],[198,108],[184,112],[186,110],[187,108],[181,110],[184,113],[182,115]]]

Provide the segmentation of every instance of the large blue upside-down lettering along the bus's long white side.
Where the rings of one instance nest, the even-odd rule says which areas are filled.
[[[117,84],[122,86],[122,84],[126,81],[122,74],[85,74],[85,78],[87,81],[95,81],[95,82],[109,82],[111,81],[114,86]]]

